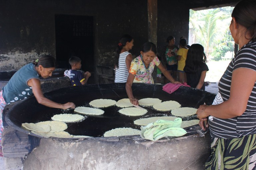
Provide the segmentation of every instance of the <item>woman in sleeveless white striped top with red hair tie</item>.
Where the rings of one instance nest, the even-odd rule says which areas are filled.
[[[126,34],[119,40],[115,55],[115,83],[126,83],[132,62],[132,54],[128,51],[132,47],[133,39],[130,35]]]

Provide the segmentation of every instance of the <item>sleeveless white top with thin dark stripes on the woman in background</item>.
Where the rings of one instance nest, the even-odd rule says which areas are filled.
[[[125,59],[129,53],[128,51],[119,54],[118,68],[116,68],[115,73],[115,83],[126,83],[128,78],[128,70],[126,67]]]

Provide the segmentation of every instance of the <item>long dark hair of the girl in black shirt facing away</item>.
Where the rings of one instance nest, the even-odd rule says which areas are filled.
[[[184,71],[187,73],[196,73],[205,62],[204,47],[201,44],[192,44],[188,49]]]

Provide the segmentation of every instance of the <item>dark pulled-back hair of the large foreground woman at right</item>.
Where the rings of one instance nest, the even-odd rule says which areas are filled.
[[[246,32],[250,33],[250,36],[252,37],[251,40],[256,39],[256,1],[255,0],[242,0],[238,2],[238,4],[233,9],[231,17],[234,17],[238,24],[244,26],[247,29]]]

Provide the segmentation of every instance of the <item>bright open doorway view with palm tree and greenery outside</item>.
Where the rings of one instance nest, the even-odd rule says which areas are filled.
[[[234,7],[190,10],[189,45],[203,45],[209,71],[205,82],[218,83],[234,57],[234,40],[229,25]]]

